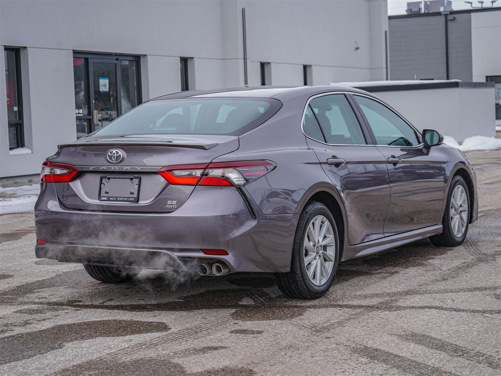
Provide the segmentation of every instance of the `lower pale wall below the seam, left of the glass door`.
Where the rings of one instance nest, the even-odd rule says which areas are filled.
[[[21,58],[23,71],[23,114],[26,147],[31,154],[11,155],[7,126],[5,79],[0,80],[0,176],[18,176],[40,171],[42,162],[56,146],[77,138],[73,52],[27,48]],[[4,59],[2,66],[5,71]],[[28,63],[28,64],[26,64]]]

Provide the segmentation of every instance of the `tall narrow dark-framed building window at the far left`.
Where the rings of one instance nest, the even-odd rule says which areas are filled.
[[[19,49],[5,48],[5,82],[7,88],[7,120],[9,149],[24,147],[23,101]]]

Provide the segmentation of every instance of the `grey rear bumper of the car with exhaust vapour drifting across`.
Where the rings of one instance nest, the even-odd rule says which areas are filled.
[[[224,261],[231,272],[286,272],[299,215],[264,215],[247,196],[250,216],[233,187],[197,186],[171,213],[89,212],[65,208],[53,184],[35,205],[37,258],[98,265],[195,270],[201,259]],[[200,249],[222,249],[207,256]]]

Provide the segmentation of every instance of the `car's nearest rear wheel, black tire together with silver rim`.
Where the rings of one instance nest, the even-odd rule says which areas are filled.
[[[329,291],[338,268],[339,236],[329,209],[310,201],[301,213],[292,249],[291,270],[274,273],[278,288],[298,299],[317,299]]]

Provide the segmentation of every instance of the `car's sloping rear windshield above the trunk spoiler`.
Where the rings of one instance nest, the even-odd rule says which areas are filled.
[[[271,98],[183,98],[143,103],[94,135],[224,134],[240,136],[282,107]]]

